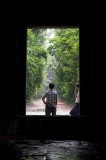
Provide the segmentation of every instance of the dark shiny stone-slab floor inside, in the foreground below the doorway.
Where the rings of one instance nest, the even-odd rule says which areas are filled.
[[[104,160],[105,151],[103,141],[0,141],[0,160]]]

